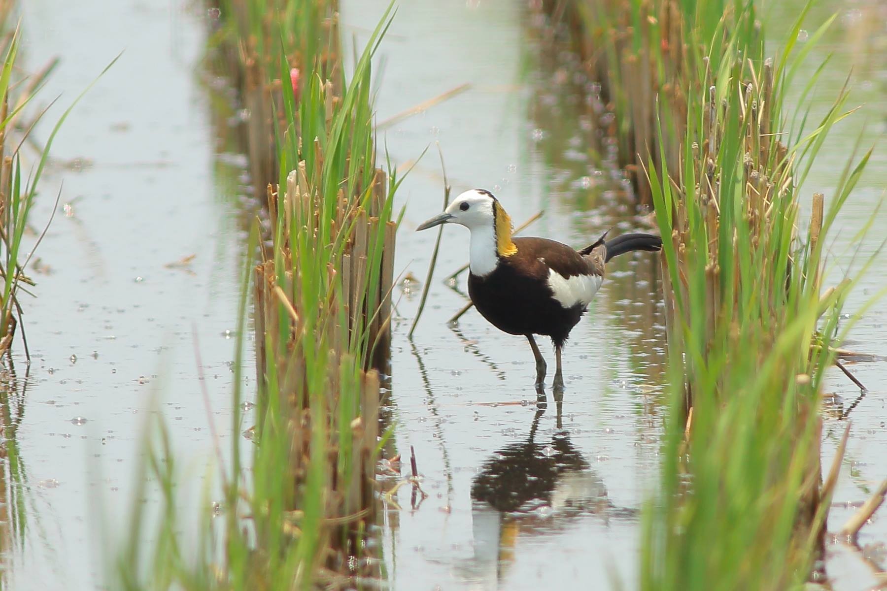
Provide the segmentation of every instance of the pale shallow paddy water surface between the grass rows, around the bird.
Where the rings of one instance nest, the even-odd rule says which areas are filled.
[[[217,156],[224,142],[216,128],[227,122],[209,113],[217,81],[199,66],[212,17],[188,4],[104,4],[23,3],[27,65],[62,57],[44,99],[63,93],[60,105],[67,105],[125,51],[59,135],[35,210],[37,223],[48,218],[51,196],[64,180],[65,213],[38,253],[40,297],[26,299],[33,363],[27,371],[17,344],[15,372],[7,374],[12,428],[6,437],[18,446],[23,468],[6,461],[3,492],[7,521],[25,528],[3,530],[2,556],[4,582],[17,589],[98,587],[103,559],[114,550],[98,537],[100,517],[118,533],[124,529],[116,517],[132,501],[140,432],[153,405],[168,421],[179,464],[190,475],[210,472],[213,463],[201,374],[212,416],[228,424],[242,249],[236,229],[242,210],[232,198],[238,187],[230,182],[246,185],[247,179],[231,166],[242,159]],[[357,43],[387,6],[382,0],[342,4],[343,30]],[[811,21],[821,22],[839,5],[819,3]],[[851,103],[865,105],[825,145],[805,199],[812,191],[831,197],[860,133],[864,146],[884,135],[887,15],[873,1],[847,6],[812,52],[812,64],[835,53],[816,109],[828,107],[851,67]],[[774,3],[770,10],[766,18],[779,22],[794,9]],[[612,166],[608,141],[595,132],[607,115],[594,100],[593,81],[539,25],[533,12],[508,0],[417,0],[399,7],[380,50],[379,121],[461,84],[470,88],[383,131],[398,164],[432,144],[399,194],[406,214],[398,273],[425,280],[436,234],[412,229],[442,206],[435,143],[454,193],[494,191],[517,223],[544,210],[530,234],[581,246],[606,229],[648,227],[645,216],[626,205],[629,187]],[[101,35],[84,33],[99,29]],[[47,121],[59,113],[54,107]],[[44,124],[37,136],[49,129]],[[887,214],[879,212],[872,239],[859,253],[849,248],[883,197],[885,173],[887,155],[879,145],[830,246],[836,273],[874,253],[887,229]],[[500,333],[474,310],[457,326],[446,323],[467,301],[464,274],[443,282],[467,261],[466,232],[451,227],[443,234],[412,341],[406,333],[421,285],[395,293],[389,408],[396,431],[386,454],[405,459],[415,450],[427,497],[402,487],[385,502],[376,543],[392,587],[588,588],[618,580],[632,588],[638,511],[655,486],[662,433],[658,262],[648,253],[613,261],[565,350],[566,392],[557,399],[549,390],[538,400],[523,338]],[[169,266],[191,255],[190,262]],[[848,313],[882,289],[883,261],[876,259]],[[848,346],[887,353],[885,314],[887,302],[879,300]],[[543,352],[553,369],[551,347],[545,344]],[[853,423],[831,530],[852,514],[849,504],[865,500],[887,477],[885,368],[852,366],[870,389],[863,398],[840,372],[830,374],[826,465],[844,421]],[[228,430],[220,432],[224,449]],[[196,476],[185,485],[192,492],[200,486]],[[147,502],[156,506],[156,496]],[[193,515],[200,507],[189,508]],[[836,588],[873,584],[873,565],[883,566],[885,524],[876,518],[863,530],[866,555],[829,544],[827,569]]]

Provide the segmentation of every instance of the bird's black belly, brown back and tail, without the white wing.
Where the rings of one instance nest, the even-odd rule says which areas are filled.
[[[564,278],[602,277],[605,261],[634,250],[659,250],[662,241],[649,234],[625,234],[609,242],[601,237],[579,252],[546,238],[514,238],[514,245],[517,253],[499,257],[491,273],[468,276],[468,295],[477,311],[499,330],[546,335],[561,347],[586,308],[580,304],[563,307],[554,299],[548,284],[550,271]]]

